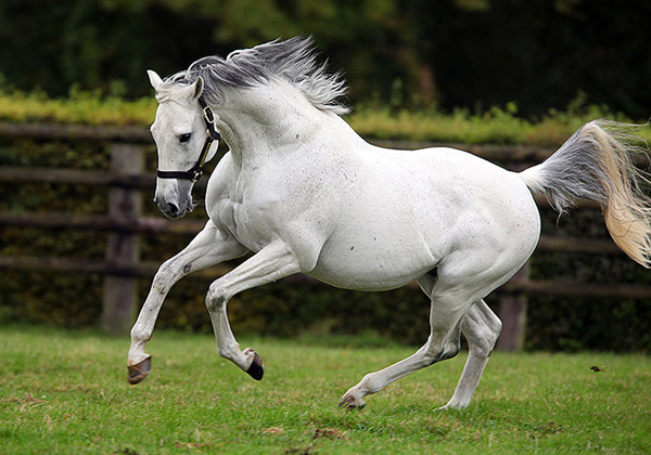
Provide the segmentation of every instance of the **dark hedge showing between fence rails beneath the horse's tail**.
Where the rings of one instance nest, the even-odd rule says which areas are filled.
[[[544,209],[542,234],[610,239],[599,210],[577,209],[559,219]],[[651,271],[620,253],[537,251],[532,280],[651,285]],[[647,299],[529,296],[525,346],[551,351],[651,352],[651,296]]]

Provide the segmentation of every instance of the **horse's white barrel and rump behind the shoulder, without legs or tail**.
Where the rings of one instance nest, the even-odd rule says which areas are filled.
[[[540,220],[518,174],[451,150],[401,158],[399,169],[378,159],[361,173],[311,276],[383,290],[445,266],[450,278],[490,291],[526,262]]]

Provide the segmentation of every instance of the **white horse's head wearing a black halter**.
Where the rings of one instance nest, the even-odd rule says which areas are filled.
[[[158,171],[154,202],[166,217],[180,218],[192,211],[192,186],[201,177],[204,161],[217,152],[219,134],[206,123],[214,120],[202,99],[204,82],[163,81],[148,72],[156,90],[158,109],[151,127],[158,148]],[[208,112],[209,109],[209,112]]]

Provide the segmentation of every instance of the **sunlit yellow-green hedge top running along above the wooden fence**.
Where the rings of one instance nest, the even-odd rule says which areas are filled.
[[[66,99],[49,99],[42,93],[2,91],[0,87],[0,121],[58,122],[85,125],[140,125],[149,127],[154,119],[153,96],[126,101],[114,96],[73,90]],[[587,104],[582,93],[565,110],[550,109],[535,121],[518,116],[515,103],[488,109],[400,110],[375,104],[358,106],[346,120],[363,136],[464,144],[559,145],[578,127],[596,118],[629,122],[623,114],[607,106]],[[639,130],[651,139],[651,128]]]

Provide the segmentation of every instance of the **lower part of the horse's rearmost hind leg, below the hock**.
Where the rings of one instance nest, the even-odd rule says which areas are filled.
[[[460,410],[470,404],[500,332],[501,321],[484,300],[472,306],[461,323],[461,333],[468,341],[468,360],[455,394],[442,408]]]

